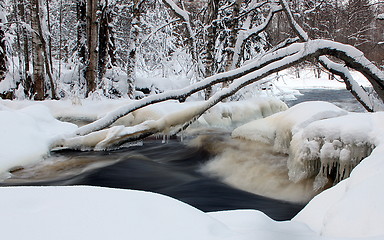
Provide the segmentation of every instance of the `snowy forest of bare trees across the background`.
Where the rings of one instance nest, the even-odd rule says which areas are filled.
[[[199,82],[298,41],[280,2],[2,1],[0,96],[134,99],[162,92],[155,84],[162,79]],[[383,2],[288,4],[309,38],[350,44],[383,67]],[[322,74],[316,59],[296,65],[296,74],[308,67]],[[201,96],[208,99],[219,88],[208,87]]]

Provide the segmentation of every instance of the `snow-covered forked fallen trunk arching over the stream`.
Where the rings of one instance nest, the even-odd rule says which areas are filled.
[[[76,142],[81,142],[82,144],[89,147],[92,147],[92,145],[96,146],[99,143],[101,145],[98,145],[98,147],[105,147],[106,143],[121,144],[123,142],[137,140],[139,138],[167,130],[174,126],[188,126],[191,121],[201,116],[206,110],[221,100],[233,95],[244,86],[257,81],[261,81],[273,73],[287,69],[310,58],[315,58],[322,55],[332,55],[338,57],[341,60],[344,60],[348,66],[360,71],[365,76],[367,76],[368,80],[374,81],[374,85],[384,85],[384,74],[379,69],[377,69],[377,67],[372,65],[370,61],[364,57],[362,52],[353,46],[329,40],[310,40],[305,43],[294,43],[288,47],[267,54],[260,58],[258,61],[251,62],[244,67],[227,73],[212,76],[205,79],[204,81],[195,83],[186,88],[169,91],[158,95],[152,95],[135,101],[132,104],[110,112],[103,118],[91,124],[79,128],[75,135],[69,137],[69,139],[72,140],[61,142],[58,141],[55,146],[65,146],[63,142],[69,143],[70,146]],[[208,86],[228,80],[233,80],[228,88],[217,92],[203,105],[195,108],[192,112],[178,113],[174,116],[172,115],[173,117],[167,116],[157,121],[145,122],[133,127],[115,127],[109,130],[102,130],[110,126],[120,117],[125,116],[139,108],[168,99],[186,98],[197,91],[205,89]]]

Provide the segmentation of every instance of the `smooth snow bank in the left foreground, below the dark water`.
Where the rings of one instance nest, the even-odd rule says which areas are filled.
[[[4,239],[235,239],[221,222],[155,193],[95,187],[0,192]]]

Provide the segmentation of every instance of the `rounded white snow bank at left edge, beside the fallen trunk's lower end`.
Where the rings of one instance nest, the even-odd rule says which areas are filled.
[[[0,174],[9,169],[42,160],[51,142],[76,126],[60,122],[49,110],[34,105],[20,110],[0,109]],[[0,175],[1,176],[1,175]]]

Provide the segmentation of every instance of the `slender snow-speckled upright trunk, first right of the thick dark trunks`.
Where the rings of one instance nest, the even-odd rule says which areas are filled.
[[[139,45],[139,29],[140,29],[140,6],[142,1],[134,0],[132,22],[130,31],[130,48],[128,52],[128,63],[127,63],[127,82],[128,82],[128,97],[133,99],[135,92],[135,81],[136,81],[136,53]]]

